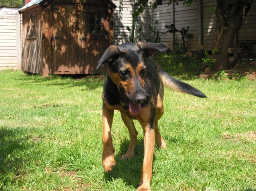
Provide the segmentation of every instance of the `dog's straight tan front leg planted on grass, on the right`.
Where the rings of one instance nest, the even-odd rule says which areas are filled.
[[[155,123],[142,123],[144,133],[144,159],[141,170],[141,179],[137,191],[150,191],[152,178],[153,153],[155,148]]]

